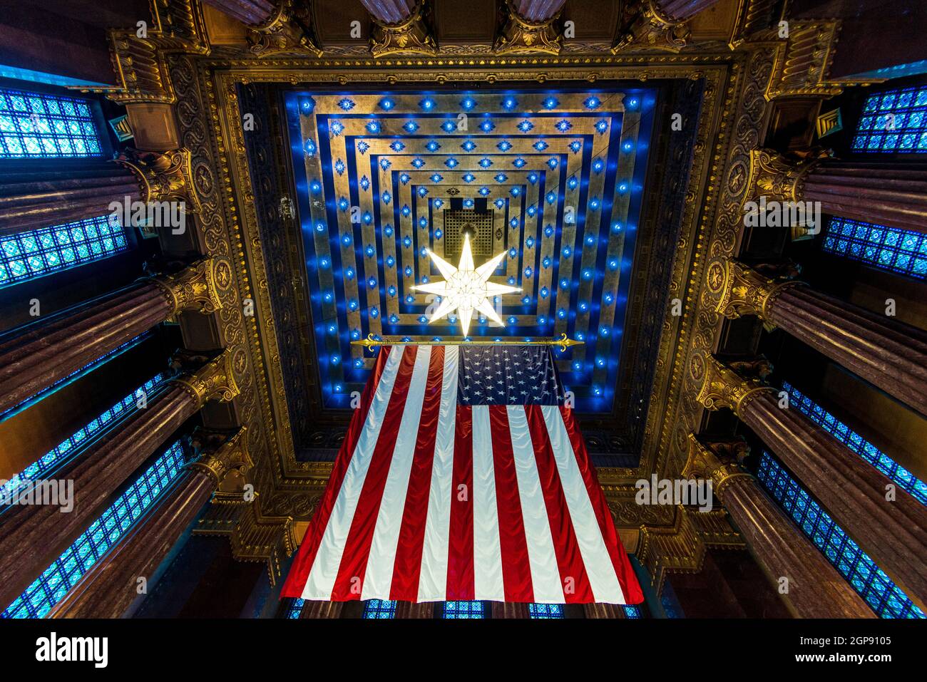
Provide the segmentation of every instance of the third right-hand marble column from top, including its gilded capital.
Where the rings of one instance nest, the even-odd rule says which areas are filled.
[[[712,357],[697,356],[691,371],[701,374],[698,401],[709,410],[733,410],[923,608],[927,508],[801,411],[781,408],[774,388],[744,379]]]

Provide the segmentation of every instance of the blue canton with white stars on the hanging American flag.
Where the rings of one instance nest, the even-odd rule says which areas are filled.
[[[461,347],[461,405],[561,405],[564,389],[550,347]]]

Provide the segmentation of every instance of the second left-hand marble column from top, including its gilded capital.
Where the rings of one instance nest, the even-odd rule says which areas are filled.
[[[0,338],[0,412],[182,310],[221,309],[221,293],[231,284],[227,260],[202,259],[7,333]]]

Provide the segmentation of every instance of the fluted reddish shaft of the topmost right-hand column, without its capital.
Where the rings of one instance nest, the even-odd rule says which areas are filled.
[[[927,233],[927,165],[825,160],[807,174],[805,201],[856,221]]]

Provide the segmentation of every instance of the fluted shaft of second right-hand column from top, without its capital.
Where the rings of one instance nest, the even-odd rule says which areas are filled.
[[[927,332],[808,286],[783,288],[767,319],[927,415]]]

